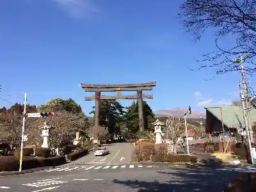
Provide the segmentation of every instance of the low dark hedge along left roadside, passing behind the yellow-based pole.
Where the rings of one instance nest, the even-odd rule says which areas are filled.
[[[36,159],[35,157],[24,157],[22,170],[38,168],[43,166],[58,166],[67,163],[65,156]],[[19,158],[15,156],[4,156],[0,158],[0,172],[10,172],[19,170]]]

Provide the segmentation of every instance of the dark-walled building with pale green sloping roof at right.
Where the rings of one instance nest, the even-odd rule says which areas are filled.
[[[243,109],[239,106],[211,107],[206,109],[205,132],[221,132],[245,128]],[[256,109],[250,111],[251,125],[256,125]]]

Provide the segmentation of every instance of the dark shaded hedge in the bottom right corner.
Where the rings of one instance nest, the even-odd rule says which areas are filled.
[[[228,182],[223,192],[246,191],[254,192],[256,189],[256,173],[246,173],[237,179]]]

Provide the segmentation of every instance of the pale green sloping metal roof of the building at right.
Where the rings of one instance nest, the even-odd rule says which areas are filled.
[[[244,116],[242,108],[237,106],[223,106],[223,107],[211,107],[205,108],[221,121],[221,108],[223,124],[229,128],[237,128],[237,126],[245,127]],[[250,111],[251,124],[256,124],[256,109]]]

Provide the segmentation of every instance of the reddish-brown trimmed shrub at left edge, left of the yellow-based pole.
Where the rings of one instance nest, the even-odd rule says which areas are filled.
[[[19,170],[19,159],[14,156],[0,157],[0,172],[11,172]]]

